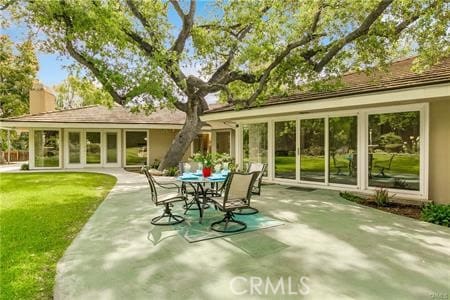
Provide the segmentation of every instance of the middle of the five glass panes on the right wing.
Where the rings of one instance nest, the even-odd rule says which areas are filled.
[[[325,121],[300,121],[300,179],[325,182]]]

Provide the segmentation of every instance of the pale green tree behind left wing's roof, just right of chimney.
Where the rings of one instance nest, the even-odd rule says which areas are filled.
[[[101,104],[111,106],[111,95],[101,86],[96,86],[89,78],[69,76],[55,86],[56,104],[59,108],[75,108],[85,105]]]

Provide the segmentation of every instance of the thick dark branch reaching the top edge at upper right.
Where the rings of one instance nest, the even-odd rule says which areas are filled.
[[[315,65],[314,70],[316,72],[322,71],[323,67],[325,67],[339,51],[344,48],[345,45],[353,42],[357,38],[367,34],[370,27],[373,23],[378,19],[381,14],[387,9],[387,7],[393,2],[393,0],[382,0],[377,7],[364,19],[361,25],[347,34],[345,37],[333,42],[330,44],[330,48],[325,56]]]

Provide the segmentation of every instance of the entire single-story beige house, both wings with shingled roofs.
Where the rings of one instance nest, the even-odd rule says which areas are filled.
[[[402,198],[450,203],[450,59],[420,74],[410,71],[412,60],[387,72],[349,73],[331,91],[272,97],[242,110],[214,107],[185,158],[229,152],[241,166],[267,163],[268,182],[363,193],[385,187]],[[126,167],[161,159],[184,117],[90,106],[1,126],[30,131],[33,169]]]

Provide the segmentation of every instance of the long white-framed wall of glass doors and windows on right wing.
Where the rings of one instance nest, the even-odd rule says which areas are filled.
[[[427,197],[427,105],[274,117],[241,123],[241,165],[269,180]]]

